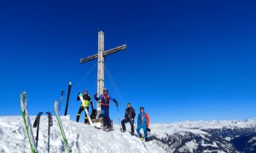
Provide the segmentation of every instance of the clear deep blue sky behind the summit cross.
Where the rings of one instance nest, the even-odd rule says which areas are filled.
[[[0,14],[0,116],[21,115],[23,90],[37,115],[53,111],[64,89],[64,114],[73,82],[75,120],[77,94],[96,93],[96,60],[79,59],[97,53],[98,31],[105,49],[127,43],[106,60],[122,99],[107,73],[105,86],[121,119],[128,102],[137,113],[144,106],[152,123],[256,115],[255,1],[2,1]]]

